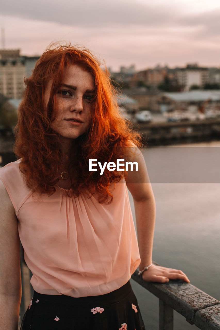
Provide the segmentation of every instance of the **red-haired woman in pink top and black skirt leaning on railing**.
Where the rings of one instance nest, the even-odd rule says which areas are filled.
[[[144,329],[129,284],[138,265],[146,281],[189,280],[152,265],[155,202],[138,134],[119,115],[108,74],[88,50],[47,49],[26,85],[19,160],[0,170],[1,329],[18,325],[19,238],[35,290],[23,330]],[[117,159],[137,162],[138,170],[114,170]],[[90,160],[110,164],[101,174]]]

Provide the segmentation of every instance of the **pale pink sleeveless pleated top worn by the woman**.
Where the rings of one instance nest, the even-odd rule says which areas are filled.
[[[86,194],[68,197],[58,186],[52,196],[34,199],[19,161],[2,167],[0,179],[16,210],[35,291],[95,296],[130,279],[140,255],[125,182],[116,184],[113,202],[106,205]]]

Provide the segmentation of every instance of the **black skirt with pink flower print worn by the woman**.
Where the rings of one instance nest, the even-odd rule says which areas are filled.
[[[100,296],[73,298],[34,291],[20,330],[145,330],[130,282]]]

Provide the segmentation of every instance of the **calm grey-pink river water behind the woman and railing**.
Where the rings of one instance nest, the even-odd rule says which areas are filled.
[[[219,147],[220,142],[212,142],[143,151],[157,205],[153,260],[162,266],[181,269],[191,284],[218,300]],[[131,282],[146,329],[158,330],[158,298]],[[174,329],[198,328],[174,312]]]

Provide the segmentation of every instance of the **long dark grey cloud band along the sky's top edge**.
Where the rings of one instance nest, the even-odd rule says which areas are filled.
[[[109,24],[163,25],[172,20],[175,6],[150,6],[137,1],[59,0],[4,1],[2,15],[60,24],[106,26]]]

